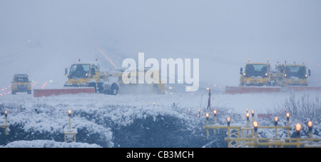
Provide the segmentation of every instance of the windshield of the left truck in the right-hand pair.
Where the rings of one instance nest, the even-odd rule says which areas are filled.
[[[245,77],[250,76],[262,76],[265,77],[267,74],[267,65],[265,64],[246,64],[245,66]]]

